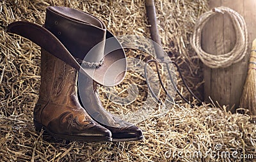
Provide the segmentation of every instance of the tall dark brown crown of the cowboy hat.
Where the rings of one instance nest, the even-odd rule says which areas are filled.
[[[46,10],[44,27],[63,43],[76,59],[100,63],[104,57],[106,27],[88,13],[62,6]],[[97,45],[97,48],[93,48]],[[90,50],[90,55],[87,55]]]

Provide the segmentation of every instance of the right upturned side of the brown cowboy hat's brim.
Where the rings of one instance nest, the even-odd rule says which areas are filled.
[[[88,52],[90,55],[90,52]],[[86,56],[85,58],[86,59]],[[106,32],[104,61],[98,68],[88,68],[81,64],[83,70],[97,84],[113,86],[120,84],[127,71],[127,59],[124,48],[116,37],[109,31]],[[80,70],[81,73],[81,70]]]

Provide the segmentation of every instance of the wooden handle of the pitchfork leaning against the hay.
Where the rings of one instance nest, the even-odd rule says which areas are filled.
[[[154,44],[154,48],[156,50],[156,56],[158,59],[163,59],[164,51],[161,45],[161,39],[159,37],[159,33],[157,29],[156,7],[154,4],[154,0],[146,0],[145,3],[146,3],[148,24],[150,24],[149,29],[150,29],[151,39],[158,44],[158,45]]]

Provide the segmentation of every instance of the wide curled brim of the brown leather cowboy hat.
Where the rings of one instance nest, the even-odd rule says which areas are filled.
[[[36,45],[44,48],[47,52],[58,57],[61,61],[69,64],[79,72],[83,72],[92,78],[97,84],[104,86],[114,86],[124,80],[127,70],[127,60],[124,49],[112,33],[106,33],[106,48],[104,51],[104,63],[99,68],[84,68],[68,52],[67,48],[47,29],[37,24],[17,21],[12,22],[7,27],[8,33],[19,34],[27,38]],[[107,41],[107,40],[111,41]]]

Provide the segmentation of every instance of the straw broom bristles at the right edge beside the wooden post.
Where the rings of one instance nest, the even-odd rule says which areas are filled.
[[[256,39],[252,42],[248,73],[240,99],[240,107],[248,108],[250,115],[256,115]]]

